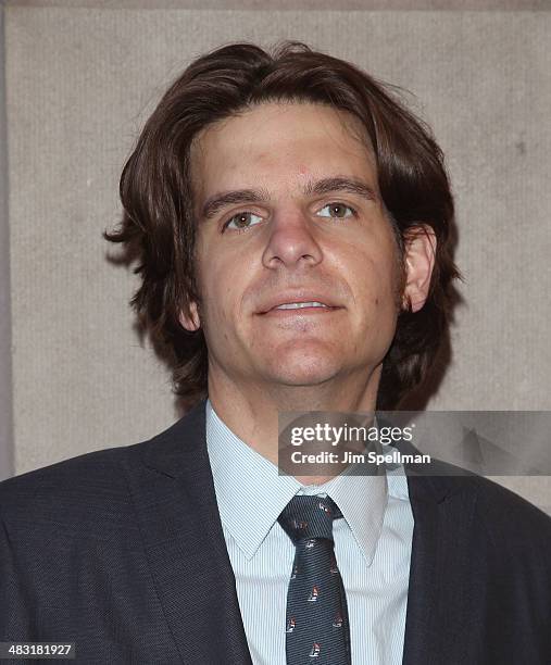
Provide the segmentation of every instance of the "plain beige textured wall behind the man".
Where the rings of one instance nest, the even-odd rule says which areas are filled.
[[[164,89],[235,40],[300,39],[413,93],[447,154],[466,278],[427,407],[551,410],[549,2],[4,7],[3,477],[178,417],[168,372],[134,329],[135,277],[109,263],[101,234],[118,221],[122,166]],[[551,513],[549,477],[499,481]]]

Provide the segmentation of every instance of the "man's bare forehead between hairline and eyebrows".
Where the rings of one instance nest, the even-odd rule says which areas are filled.
[[[328,105],[266,102],[209,125],[191,145],[193,189],[293,186],[301,177],[375,175],[362,123]],[[375,183],[373,183],[375,185]]]

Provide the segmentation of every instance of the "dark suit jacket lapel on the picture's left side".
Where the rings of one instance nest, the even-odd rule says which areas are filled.
[[[127,475],[151,574],[181,662],[251,663],[216,505],[205,401],[130,447]]]

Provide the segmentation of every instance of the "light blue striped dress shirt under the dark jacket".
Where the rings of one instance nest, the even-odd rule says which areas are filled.
[[[352,665],[402,663],[413,537],[400,468],[302,486],[241,441],[206,400],[206,448],[239,607],[254,665],[286,665],[287,588],[295,545],[277,517],[297,493],[329,497],[347,594]],[[383,452],[388,449],[383,447]]]

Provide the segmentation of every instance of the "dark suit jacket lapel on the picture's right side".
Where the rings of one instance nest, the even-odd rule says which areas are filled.
[[[464,662],[469,606],[480,593],[468,575],[475,484],[439,461],[406,473],[414,530],[403,665]]]

